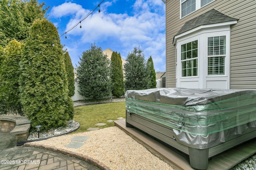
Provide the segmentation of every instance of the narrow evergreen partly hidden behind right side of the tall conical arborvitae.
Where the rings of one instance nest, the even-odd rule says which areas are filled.
[[[68,52],[64,54],[65,68],[68,78],[68,96],[72,97],[75,94],[75,76],[74,76],[74,67]]]

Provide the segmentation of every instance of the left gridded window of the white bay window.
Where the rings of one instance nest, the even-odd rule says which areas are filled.
[[[198,75],[198,41],[181,45],[182,77]]]

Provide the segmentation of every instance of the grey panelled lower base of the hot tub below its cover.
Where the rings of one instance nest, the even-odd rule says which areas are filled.
[[[206,170],[208,168],[209,158],[256,137],[256,128],[248,128],[242,134],[236,135],[224,143],[207,149],[195,149],[176,141],[172,128],[137,115],[136,113],[128,114],[126,112],[126,127],[139,129],[155,139],[170,145],[170,147],[187,154],[189,156],[190,166],[197,170]]]

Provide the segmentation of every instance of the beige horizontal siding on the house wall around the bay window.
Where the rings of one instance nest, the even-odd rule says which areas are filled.
[[[238,23],[231,26],[230,88],[256,89],[256,0],[215,0],[180,19],[180,0],[166,0],[166,86],[176,86],[173,37],[186,21],[218,10]]]

